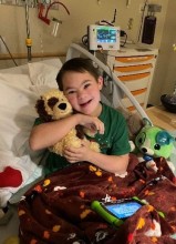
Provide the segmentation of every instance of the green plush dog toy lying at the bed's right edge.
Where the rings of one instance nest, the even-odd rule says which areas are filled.
[[[174,164],[168,161],[174,150],[175,139],[165,130],[153,126],[148,121],[147,124],[139,131],[135,138],[136,149],[143,154],[142,160],[146,161],[148,169],[157,172],[156,163],[153,161],[154,157],[165,157],[168,166],[174,172]]]

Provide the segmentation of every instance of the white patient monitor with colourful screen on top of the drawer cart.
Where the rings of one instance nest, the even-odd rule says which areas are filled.
[[[120,50],[120,27],[96,26],[87,27],[89,50]]]

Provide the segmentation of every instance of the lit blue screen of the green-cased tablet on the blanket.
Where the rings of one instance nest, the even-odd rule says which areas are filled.
[[[126,218],[132,216],[141,206],[142,204],[132,201],[126,203],[111,204],[106,205],[105,207],[116,217]]]

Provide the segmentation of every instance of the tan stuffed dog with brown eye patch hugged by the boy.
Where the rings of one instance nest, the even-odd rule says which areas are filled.
[[[35,104],[39,116],[44,122],[61,120],[73,113],[72,106],[62,91],[52,89],[41,95]],[[81,139],[76,135],[77,132],[72,129],[61,141],[53,146],[50,146],[50,151],[56,154],[63,155],[65,146],[81,146]],[[84,136],[83,140],[86,140]],[[87,140],[86,140],[87,141]],[[90,141],[90,148],[96,152],[100,152],[100,146],[96,142]]]

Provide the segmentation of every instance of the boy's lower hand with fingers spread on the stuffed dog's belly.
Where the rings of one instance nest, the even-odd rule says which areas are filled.
[[[89,161],[90,154],[92,153],[92,150],[89,148],[89,141],[82,141],[82,146],[80,149],[73,146],[65,148],[63,155],[70,163]]]

